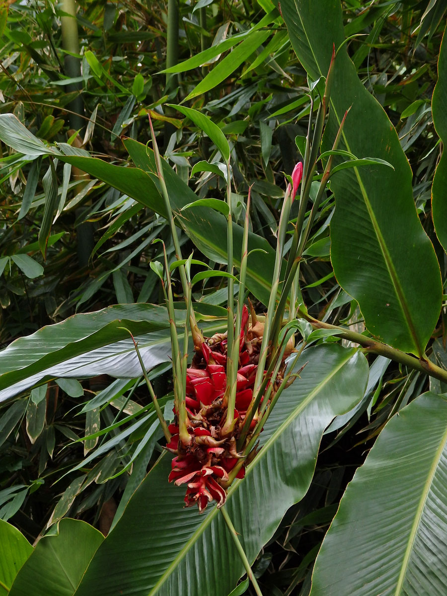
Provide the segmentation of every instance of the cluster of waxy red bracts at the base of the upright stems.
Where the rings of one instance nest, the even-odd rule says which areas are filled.
[[[243,307],[240,349],[237,371],[237,393],[235,401],[235,425],[232,433],[224,434],[222,427],[226,420],[226,334],[216,334],[199,346],[199,352],[187,369],[186,408],[189,442],[182,442],[178,423],[170,424],[172,434],[166,445],[177,454],[172,460],[169,482],[177,486],[187,485],[185,506],[197,503],[203,511],[210,501],[218,507],[225,503],[226,490],[221,483],[228,480],[228,473],[237,464],[240,454],[236,442],[240,436],[244,419],[253,398],[253,384],[259,359],[263,325],[259,322],[249,325],[247,307]],[[175,411],[174,413],[178,414]],[[250,424],[253,430],[256,415]],[[243,478],[242,465],[237,478]]]

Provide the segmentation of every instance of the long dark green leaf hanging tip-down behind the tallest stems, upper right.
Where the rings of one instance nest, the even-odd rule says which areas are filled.
[[[281,9],[306,71],[315,80],[326,76],[333,45],[344,41],[340,1],[281,0]],[[440,311],[439,265],[417,216],[411,168],[395,128],[343,47],[335,62],[324,149],[331,148],[350,106],[339,148],[384,159],[395,169],[366,166],[334,175],[334,271],[374,336],[422,356]]]

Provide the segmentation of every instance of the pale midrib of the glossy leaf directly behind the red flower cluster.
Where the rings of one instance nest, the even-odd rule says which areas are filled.
[[[305,399],[303,399],[303,401],[299,404],[299,406],[297,406],[297,408],[295,408],[293,410],[293,412],[284,420],[283,424],[281,424],[281,426],[278,427],[278,429],[272,434],[272,436],[269,437],[269,439],[262,446],[259,453],[254,458],[253,462],[249,465],[249,467],[247,467],[246,477],[249,476],[249,474],[252,472],[256,463],[260,459],[262,459],[266,453],[268,453],[269,447],[272,445],[272,443],[275,442],[275,440],[278,438],[278,436],[280,436],[280,434],[282,434],[284,432],[284,430],[287,429],[287,427],[291,424],[291,422],[294,420],[294,418],[297,417],[297,415],[301,414],[303,409],[305,409],[306,406],[308,406],[308,404],[312,401],[312,399],[314,399],[315,396],[318,395],[318,393],[321,391],[322,387],[324,387],[334,377],[334,375],[339,373],[339,371],[344,367],[344,365],[346,365],[346,362],[349,361],[350,358],[353,357],[353,354],[354,354],[353,350],[349,350],[349,352],[347,352],[346,357],[343,359],[343,361],[340,362],[340,364],[337,365],[337,367],[333,368],[330,371],[330,373],[327,374],[315,387],[313,387],[311,392],[309,392],[308,396]],[[161,457],[163,457],[163,456],[164,456],[164,454],[162,454]],[[159,461],[160,461],[160,459],[159,459]],[[228,498],[231,497],[232,493],[238,489],[238,486],[240,485],[241,482],[244,482],[244,479],[237,480],[236,482],[234,482],[234,484],[231,486],[231,488],[228,491]],[[200,524],[200,526],[197,528],[197,530],[195,530],[195,532],[193,533],[191,538],[188,540],[188,542],[185,544],[185,546],[182,548],[182,550],[179,552],[179,554],[175,557],[175,559],[172,561],[172,563],[169,565],[169,567],[167,567],[166,571],[160,577],[159,581],[157,581],[156,585],[154,585],[153,588],[151,588],[150,592],[148,592],[148,596],[154,596],[155,594],[157,594],[157,591],[163,585],[163,583],[166,582],[166,580],[171,575],[172,571],[178,566],[180,561],[188,554],[188,551],[190,550],[191,545],[195,544],[198,537],[203,534],[203,532],[206,530],[206,528],[209,526],[209,524],[212,522],[212,520],[215,518],[215,516],[217,514],[218,514],[218,508],[215,507],[213,509],[213,511],[211,511],[211,513],[206,517],[204,522],[202,524]]]

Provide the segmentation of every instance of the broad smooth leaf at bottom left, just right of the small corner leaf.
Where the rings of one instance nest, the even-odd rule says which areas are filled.
[[[72,596],[104,536],[88,523],[64,518],[44,536],[17,574],[10,596]]]

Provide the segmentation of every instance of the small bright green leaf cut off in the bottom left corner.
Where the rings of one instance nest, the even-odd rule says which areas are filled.
[[[32,552],[23,534],[0,520],[0,596],[7,596],[18,570]]]

